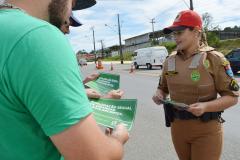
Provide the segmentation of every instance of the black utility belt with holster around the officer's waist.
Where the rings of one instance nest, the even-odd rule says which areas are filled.
[[[225,122],[225,120],[221,117],[222,112],[207,112],[197,117],[188,111],[177,110],[170,104],[164,104],[163,107],[165,112],[166,127],[170,127],[171,122],[173,122],[174,119],[180,119],[180,120],[198,119],[198,120],[201,120],[202,122],[208,122],[210,120],[218,120],[220,123]]]

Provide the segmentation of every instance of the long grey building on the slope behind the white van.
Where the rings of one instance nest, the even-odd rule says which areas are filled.
[[[125,39],[125,47],[123,52],[133,52],[140,48],[151,47],[153,37],[159,44],[162,42],[173,41],[171,36],[165,36],[161,30],[156,31],[154,34],[152,32],[144,33]]]

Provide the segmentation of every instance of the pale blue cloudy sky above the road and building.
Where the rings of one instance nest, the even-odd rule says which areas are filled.
[[[239,0],[193,0],[194,10],[199,14],[209,12],[213,25],[221,28],[240,26]],[[76,11],[74,15],[84,24],[71,28],[68,38],[75,51],[93,50],[92,32],[96,34],[96,48],[100,49],[99,40],[105,47],[119,43],[117,33],[117,14],[120,14],[122,41],[132,36],[152,31],[150,23],[155,18],[155,30],[171,25],[177,13],[189,7],[189,0],[97,0],[89,9]],[[108,26],[106,27],[105,24]]]

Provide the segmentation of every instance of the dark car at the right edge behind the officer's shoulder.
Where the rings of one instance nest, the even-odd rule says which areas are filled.
[[[234,74],[240,71],[240,48],[232,50],[225,56],[230,62]]]

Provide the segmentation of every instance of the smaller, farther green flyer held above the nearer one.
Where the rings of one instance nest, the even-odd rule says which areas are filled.
[[[116,74],[100,73],[100,76],[90,81],[86,86],[98,91],[99,93],[106,94],[111,90],[119,89],[120,76]]]

